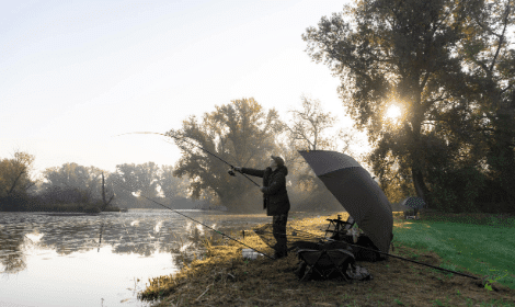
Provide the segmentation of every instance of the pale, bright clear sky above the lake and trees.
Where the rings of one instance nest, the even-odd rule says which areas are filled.
[[[0,158],[174,164],[159,136],[190,115],[254,98],[286,118],[301,94],[341,127],[340,80],[305,52],[301,34],[348,1],[1,1]]]

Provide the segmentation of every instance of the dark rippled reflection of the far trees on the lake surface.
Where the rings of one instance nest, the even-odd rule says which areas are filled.
[[[205,219],[220,217],[210,215]],[[182,263],[191,257],[190,251],[201,250],[201,237],[206,234],[199,224],[184,221],[170,214],[163,217],[162,213],[153,212],[100,216],[4,213],[0,223],[0,263],[3,266],[0,272],[10,274],[26,269],[27,246],[55,250],[59,255],[110,246],[114,253],[119,254],[150,257],[156,252],[172,253],[179,255]],[[219,230],[230,229],[241,220],[233,218],[226,224],[227,227]],[[211,225],[217,227],[216,223]]]

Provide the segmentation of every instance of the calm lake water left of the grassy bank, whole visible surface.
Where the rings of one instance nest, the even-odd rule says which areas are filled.
[[[221,232],[271,221],[264,214],[179,212]],[[137,299],[148,278],[199,255],[204,234],[215,232],[169,209],[0,213],[0,306],[148,306]]]

